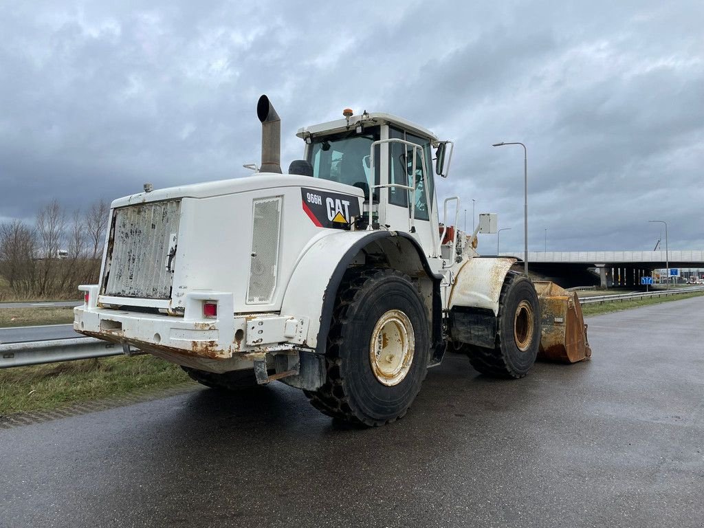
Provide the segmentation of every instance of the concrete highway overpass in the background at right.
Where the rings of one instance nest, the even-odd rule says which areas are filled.
[[[501,253],[523,260],[523,253]],[[670,268],[704,268],[704,251],[668,252]],[[529,251],[528,270],[565,287],[594,284],[636,287],[641,277],[667,267],[665,251]],[[596,268],[597,275],[589,270]]]

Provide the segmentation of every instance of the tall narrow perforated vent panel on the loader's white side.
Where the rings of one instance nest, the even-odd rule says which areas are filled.
[[[279,264],[281,196],[253,201],[252,253],[248,304],[271,302]]]

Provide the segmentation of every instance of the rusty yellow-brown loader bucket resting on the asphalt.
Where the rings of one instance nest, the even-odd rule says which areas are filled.
[[[582,307],[574,291],[554,282],[534,282],[541,311],[541,339],[538,358],[576,363],[591,357],[586,339]]]

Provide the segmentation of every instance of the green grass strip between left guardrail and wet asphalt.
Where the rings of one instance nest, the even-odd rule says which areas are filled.
[[[177,365],[148,355],[6,368],[0,370],[0,415],[157,391],[189,379]]]

